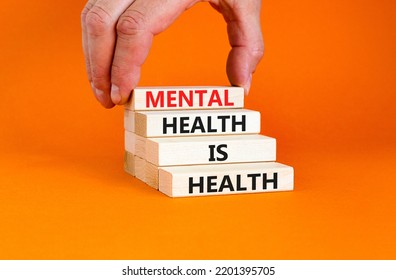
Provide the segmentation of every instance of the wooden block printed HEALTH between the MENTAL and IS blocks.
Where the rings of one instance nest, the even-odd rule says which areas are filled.
[[[127,127],[133,127],[135,133],[143,137],[257,134],[260,133],[260,112],[246,109],[139,111],[128,113],[125,129]]]

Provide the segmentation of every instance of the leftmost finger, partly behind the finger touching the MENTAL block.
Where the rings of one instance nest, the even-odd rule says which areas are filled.
[[[115,26],[133,0],[90,0],[82,13],[83,49],[88,79],[97,100],[105,107],[110,98],[111,65],[116,41]]]

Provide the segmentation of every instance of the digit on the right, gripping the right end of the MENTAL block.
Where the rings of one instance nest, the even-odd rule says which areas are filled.
[[[213,0],[211,2],[227,22],[231,51],[227,75],[232,85],[250,90],[252,74],[264,54],[260,25],[260,0]]]

